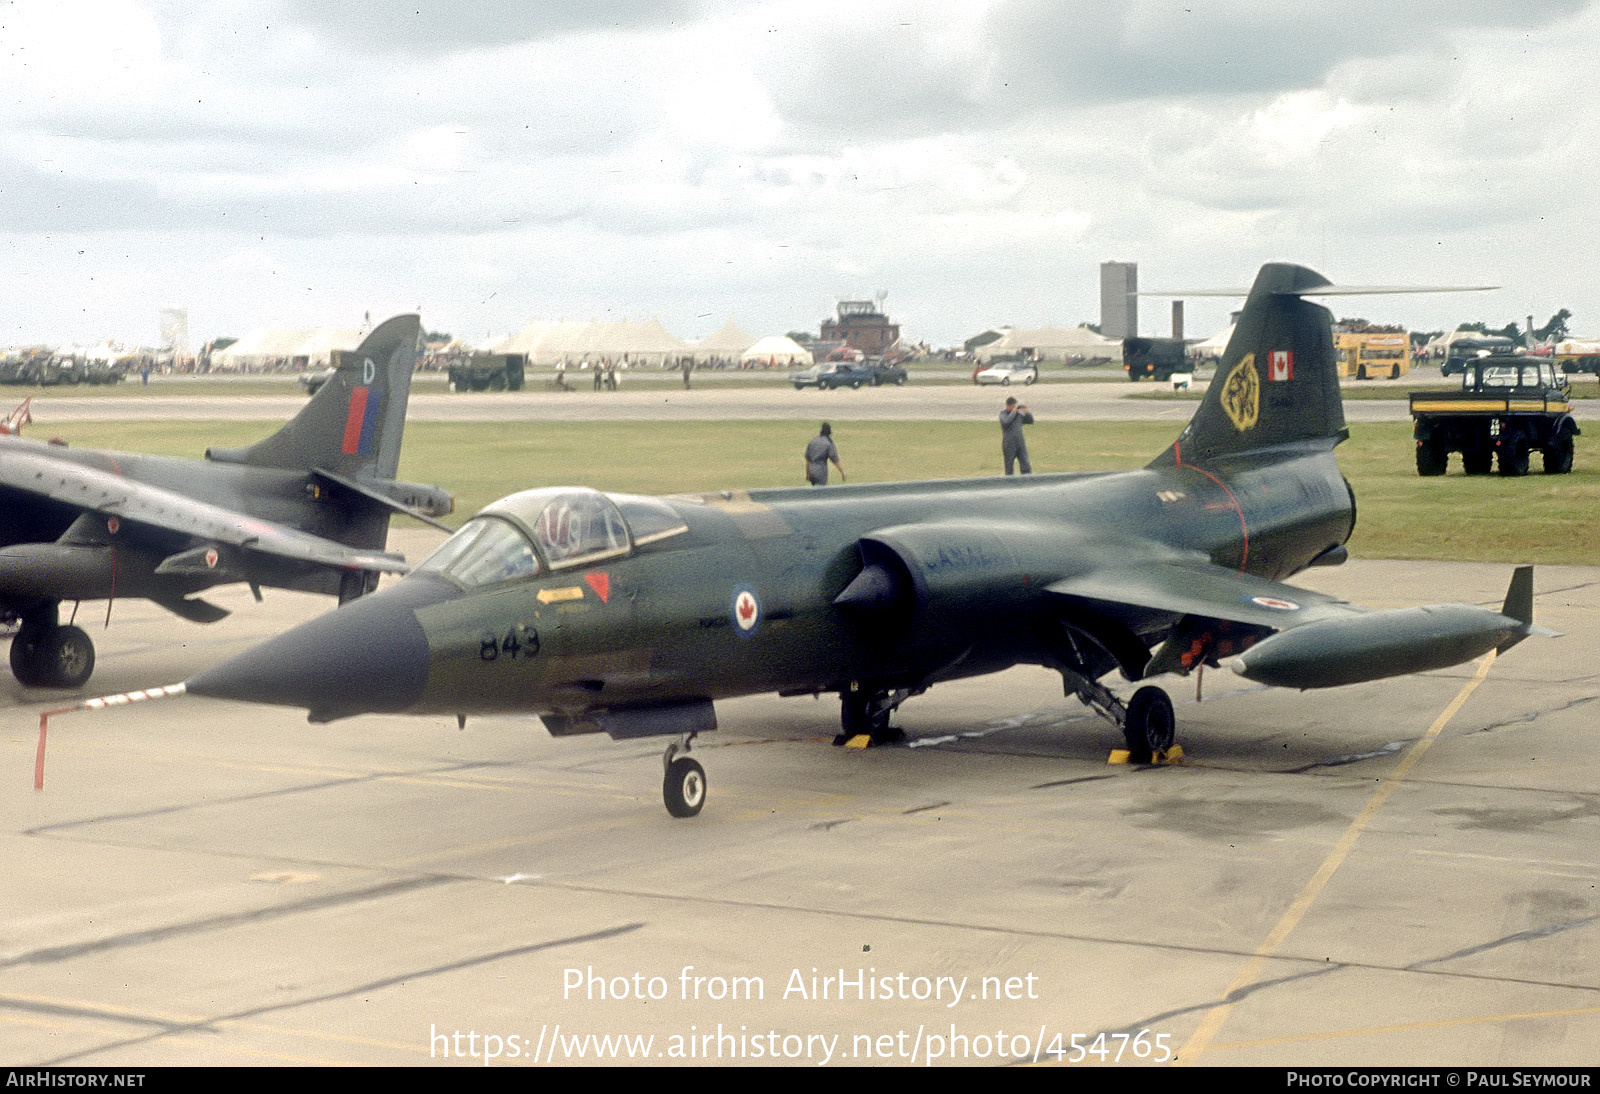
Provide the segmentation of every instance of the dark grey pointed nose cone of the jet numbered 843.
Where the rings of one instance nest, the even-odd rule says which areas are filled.
[[[448,600],[438,581],[403,581],[192,677],[192,696],[304,707],[312,721],[398,713],[427,685],[427,635],[416,608]]]

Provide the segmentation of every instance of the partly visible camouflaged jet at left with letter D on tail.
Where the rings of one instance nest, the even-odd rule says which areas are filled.
[[[88,633],[61,624],[64,600],[141,597],[214,622],[227,613],[194,595],[211,585],[346,601],[405,573],[384,550],[389,515],[438,523],[453,507],[445,491],[394,481],[419,336],[416,315],[389,320],[283,429],[205,462],[0,430],[0,621],[21,621],[18,681],[77,688],[94,670]]]

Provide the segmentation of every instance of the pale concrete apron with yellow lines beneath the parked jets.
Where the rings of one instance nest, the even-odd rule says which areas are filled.
[[[1509,573],[1302,581],[1498,605]],[[6,680],[0,1059],[1592,1065],[1600,569],[1536,582],[1562,637],[1493,665],[1170,681],[1182,766],[1109,766],[1043,670],[939,686],[867,752],[827,697],[720,704],[688,822],[661,742],[190,697],[53,718],[35,793],[62,696]],[[96,691],[328,608],[218,593],[213,627],[118,603]]]

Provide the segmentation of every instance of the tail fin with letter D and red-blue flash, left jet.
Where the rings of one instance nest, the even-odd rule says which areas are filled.
[[[411,395],[422,320],[397,315],[354,350],[283,429],[250,448],[208,449],[206,457],[253,467],[320,467],[349,478],[394,478]]]

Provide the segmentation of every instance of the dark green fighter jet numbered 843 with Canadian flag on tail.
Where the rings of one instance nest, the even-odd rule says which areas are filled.
[[[203,670],[192,694],[357,713],[538,713],[555,736],[677,737],[662,793],[699,813],[685,755],[731,696],[838,693],[842,733],[939,681],[1038,664],[1171,747],[1155,685],[1240,675],[1323,688],[1459,664],[1533,627],[1533,574],[1502,611],[1362,611],[1282,584],[1344,561],[1355,501],[1330,313],[1312,270],[1266,266],[1205,400],[1146,469],[677,497],[533,489],[469,520],[413,574]],[[1355,291],[1355,289],[1349,289]],[[1549,632],[1546,632],[1549,633]],[[336,670],[330,669],[336,667]]]

